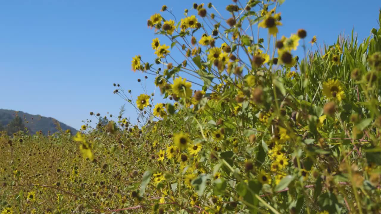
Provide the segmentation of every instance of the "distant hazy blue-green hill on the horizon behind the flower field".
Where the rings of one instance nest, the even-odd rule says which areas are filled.
[[[16,117],[16,114],[22,119],[25,127],[28,128],[30,134],[35,134],[40,130],[44,135],[47,135],[48,131],[50,131],[51,134],[58,131],[56,129],[56,124],[54,124],[54,118],[42,117],[41,115],[31,115],[26,112],[6,109],[0,109],[0,126],[2,125],[3,127],[6,127],[6,125],[8,125],[8,123],[10,123],[10,121]],[[63,131],[70,129],[72,134],[75,134],[78,131],[77,129],[61,122],[59,122],[59,125]]]

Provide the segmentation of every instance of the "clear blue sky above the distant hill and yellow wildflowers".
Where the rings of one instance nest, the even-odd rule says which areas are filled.
[[[232,3],[211,2],[220,10]],[[136,80],[144,79],[144,74],[131,71],[131,59],[136,54],[154,59],[150,43],[155,35],[147,28],[147,19],[165,4],[179,20],[193,3],[0,1],[0,109],[54,117],[77,129],[82,120],[91,118],[90,111],[117,115],[125,101],[112,93],[112,84],[139,95],[142,89]],[[354,27],[363,40],[372,27],[377,28],[380,6],[379,0],[286,0],[277,9],[282,13],[280,34],[289,36],[304,28],[307,40],[317,35],[319,44],[331,44],[339,33],[349,35]],[[168,13],[164,16],[170,18]],[[153,77],[148,80],[152,85]],[[135,121],[135,110],[126,107],[124,116]]]

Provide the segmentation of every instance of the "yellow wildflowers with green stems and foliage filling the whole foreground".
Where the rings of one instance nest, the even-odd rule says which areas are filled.
[[[282,3],[164,5],[131,62],[160,93],[114,84],[138,122],[3,133],[1,214],[381,213],[381,30],[312,51]]]

